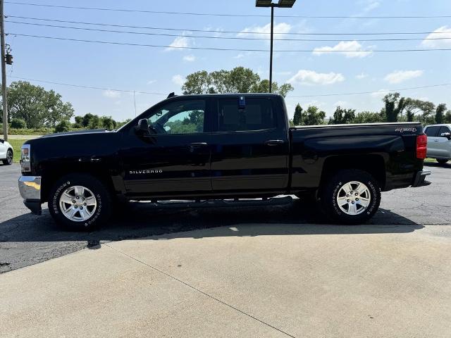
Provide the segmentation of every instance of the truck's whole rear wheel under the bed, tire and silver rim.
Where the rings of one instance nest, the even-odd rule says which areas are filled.
[[[360,224],[378,211],[381,189],[377,180],[363,170],[340,170],[322,190],[321,204],[331,220]]]

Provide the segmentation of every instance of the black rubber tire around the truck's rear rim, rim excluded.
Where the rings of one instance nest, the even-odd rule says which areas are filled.
[[[338,206],[337,197],[340,189],[349,182],[362,182],[368,188],[369,195],[371,199],[369,200],[369,205],[363,208],[361,205],[358,208],[363,208],[362,211],[357,215],[348,215],[340,206]],[[354,185],[354,187],[356,187]],[[352,202],[351,202],[352,203]],[[360,202],[354,202],[357,204]],[[321,191],[321,207],[326,216],[336,223],[356,225],[362,224],[369,220],[378,211],[379,204],[381,204],[381,188],[379,187],[378,181],[369,173],[363,170],[349,169],[340,170],[338,173],[333,175],[333,177],[326,182],[326,185]],[[345,208],[345,206],[343,206]],[[348,207],[349,208],[349,207]]]

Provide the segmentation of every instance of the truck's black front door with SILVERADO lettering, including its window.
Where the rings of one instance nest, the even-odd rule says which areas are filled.
[[[173,99],[145,116],[149,132],[125,136],[120,158],[128,196],[211,192],[211,131],[204,99]]]

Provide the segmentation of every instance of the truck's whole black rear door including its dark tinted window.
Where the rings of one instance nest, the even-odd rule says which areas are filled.
[[[275,96],[218,96],[211,137],[214,192],[274,192],[288,187],[288,130]]]

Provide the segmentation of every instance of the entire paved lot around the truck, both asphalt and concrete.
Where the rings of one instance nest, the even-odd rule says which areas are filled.
[[[449,337],[451,165],[428,168],[431,185],[383,193],[366,225],[298,199],[133,203],[85,234],[31,215],[18,165],[0,166],[5,337]]]

